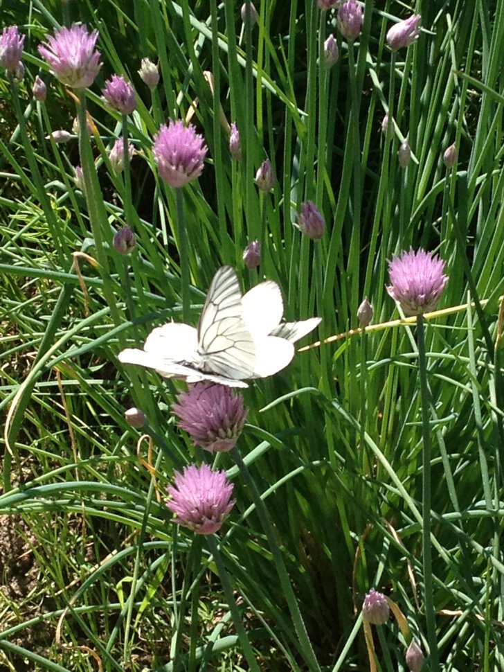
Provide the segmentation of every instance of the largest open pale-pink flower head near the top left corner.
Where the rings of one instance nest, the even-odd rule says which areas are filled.
[[[39,52],[55,78],[73,89],[91,86],[101,67],[100,52],[95,49],[98,30],[88,33],[86,26],[73,24],[71,28],[55,30],[46,39],[39,45]]]

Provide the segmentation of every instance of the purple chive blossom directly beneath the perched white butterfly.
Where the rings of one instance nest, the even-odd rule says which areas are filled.
[[[236,445],[246,418],[243,398],[231,387],[198,382],[177,396],[177,425],[193,443],[208,452],[226,452]]]

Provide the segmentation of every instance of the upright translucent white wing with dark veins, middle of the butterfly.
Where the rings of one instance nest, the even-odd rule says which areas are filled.
[[[242,292],[231,266],[222,266],[213,276],[197,334],[197,369],[233,380],[251,378],[255,343],[242,318]]]

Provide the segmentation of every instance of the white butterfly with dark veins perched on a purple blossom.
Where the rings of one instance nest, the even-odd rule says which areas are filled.
[[[168,322],[152,330],[143,350],[127,348],[118,359],[164,378],[248,387],[246,379],[285,369],[294,357],[294,342],[321,322],[318,317],[282,322],[282,315],[276,283],[262,282],[242,296],[235,270],[222,266],[210,283],[197,328]]]

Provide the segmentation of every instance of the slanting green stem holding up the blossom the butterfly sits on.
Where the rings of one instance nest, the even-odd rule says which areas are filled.
[[[249,488],[252,501],[255,505],[255,511],[257,511],[260,522],[262,524],[262,528],[266,533],[269,548],[273,556],[273,562],[275,563],[275,567],[278,572],[278,577],[280,578],[280,585],[282,587],[282,592],[285,595],[285,599],[287,600],[287,605],[289,607],[291,619],[294,624],[294,628],[296,629],[296,635],[298,635],[300,650],[303,651],[305,654],[305,661],[307,663],[308,669],[316,672],[321,672],[321,668],[318,665],[318,662],[315,657],[312,643],[309,641],[308,638],[306,627],[303,622],[303,617],[301,616],[301,612],[299,610],[299,606],[296,601],[296,596],[294,595],[294,590],[292,589],[291,582],[289,581],[289,574],[287,574],[287,567],[285,567],[285,563],[282,558],[282,554],[280,552],[280,547],[278,546],[275,532],[273,531],[273,525],[271,524],[271,520],[269,520],[269,515],[266,506],[264,505],[264,502],[261,499],[260,492],[257,486],[255,485],[255,482],[251,476],[251,473],[249,472],[249,469],[244,463],[242,456],[240,455],[240,452],[238,452],[236,447],[233,448],[231,454],[238,466],[238,469],[240,470],[240,474],[242,475],[242,478],[244,479],[247,488]]]

